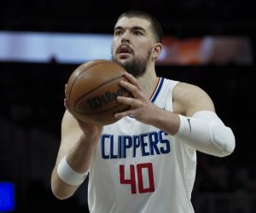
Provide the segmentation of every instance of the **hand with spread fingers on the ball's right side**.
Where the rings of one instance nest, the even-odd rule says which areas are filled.
[[[133,97],[118,96],[117,101],[130,105],[131,108],[125,112],[114,114],[114,117],[119,119],[125,116],[133,116],[140,122],[150,124],[150,118],[154,115],[157,107],[146,97],[137,78],[134,78],[128,72],[125,72],[124,75],[130,83],[125,81],[120,81],[119,83],[123,88],[130,91]]]

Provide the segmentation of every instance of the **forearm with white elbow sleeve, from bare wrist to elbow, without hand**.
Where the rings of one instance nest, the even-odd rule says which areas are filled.
[[[202,153],[224,157],[235,148],[232,130],[223,124],[215,112],[201,111],[193,117],[184,117],[160,111],[155,116],[154,125]]]

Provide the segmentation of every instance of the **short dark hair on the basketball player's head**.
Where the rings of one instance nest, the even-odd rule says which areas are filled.
[[[160,25],[160,22],[156,20],[153,15],[148,14],[147,12],[144,12],[142,10],[128,10],[125,13],[121,14],[118,20],[121,19],[122,17],[128,17],[128,18],[139,17],[139,18],[148,20],[151,23],[156,42],[160,42],[160,43],[162,42],[163,28]]]

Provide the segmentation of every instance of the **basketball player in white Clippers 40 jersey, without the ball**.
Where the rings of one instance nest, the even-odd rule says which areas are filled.
[[[90,212],[191,213],[196,151],[218,157],[233,152],[233,132],[207,93],[156,75],[161,39],[162,28],[151,15],[119,16],[112,55],[127,70],[130,83],[120,85],[133,97],[117,100],[131,108],[116,113],[114,124],[94,126],[73,118],[65,101],[51,178],[58,199],[72,196],[89,173]]]

